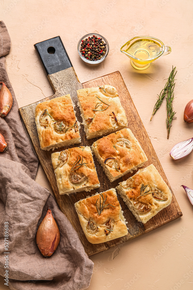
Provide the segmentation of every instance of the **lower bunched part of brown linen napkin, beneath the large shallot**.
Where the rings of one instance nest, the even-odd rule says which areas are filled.
[[[93,262],[85,254],[78,234],[58,209],[52,195],[29,177],[23,164],[1,157],[0,166],[0,184],[4,185],[0,187],[0,231],[4,232],[4,223],[8,221],[10,289],[86,289]],[[37,226],[46,215],[47,206],[60,229],[60,243],[54,254],[46,259],[36,245],[35,236]],[[3,246],[4,237],[1,236],[1,276],[5,274],[6,254],[3,253],[6,251]]]

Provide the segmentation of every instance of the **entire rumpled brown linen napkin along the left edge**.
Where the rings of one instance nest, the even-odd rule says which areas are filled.
[[[8,54],[9,50],[10,38],[5,24],[0,21],[0,56]],[[13,96],[10,113],[0,118],[0,133],[9,146],[8,153],[0,153],[0,275],[5,277],[8,269],[8,284],[15,290],[86,289],[93,262],[52,195],[34,181],[38,161],[23,129],[3,56],[0,57],[0,81],[8,86]],[[60,243],[46,259],[36,245],[35,236],[47,206],[58,224]],[[9,223],[9,254],[4,247],[6,222]],[[9,268],[4,267],[5,255],[9,258]]]

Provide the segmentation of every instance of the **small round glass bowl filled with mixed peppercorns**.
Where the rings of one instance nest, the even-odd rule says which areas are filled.
[[[109,53],[109,44],[100,34],[84,35],[78,42],[80,58],[89,64],[102,62]]]

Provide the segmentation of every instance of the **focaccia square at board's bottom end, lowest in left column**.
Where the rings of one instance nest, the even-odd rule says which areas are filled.
[[[114,188],[80,200],[75,207],[84,234],[91,244],[104,243],[128,234]]]

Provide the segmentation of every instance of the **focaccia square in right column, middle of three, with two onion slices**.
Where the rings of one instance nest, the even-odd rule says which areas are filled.
[[[141,145],[128,128],[97,140],[92,150],[111,182],[147,161]]]

